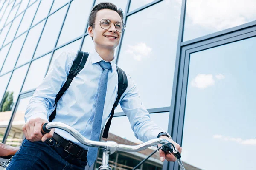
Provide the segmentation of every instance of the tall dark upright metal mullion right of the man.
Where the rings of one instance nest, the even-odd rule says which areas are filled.
[[[177,122],[177,112],[176,107],[178,107],[179,103],[179,92],[180,92],[180,86],[181,84],[178,83],[180,79],[180,71],[183,71],[183,53],[181,48],[181,43],[183,40],[183,33],[184,33],[184,23],[185,23],[185,15],[186,15],[186,0],[182,0],[181,4],[181,14],[180,14],[180,25],[179,25],[179,35],[178,35],[178,40],[177,40],[177,51],[176,51],[176,60],[175,60],[175,74],[173,77],[173,84],[172,84],[172,96],[171,96],[171,106],[169,110],[169,123],[168,123],[168,133],[171,134],[172,138],[174,140],[177,140],[177,135],[175,135],[175,122]],[[175,168],[175,163],[174,162],[164,162],[164,169],[165,170],[173,170],[177,169]]]

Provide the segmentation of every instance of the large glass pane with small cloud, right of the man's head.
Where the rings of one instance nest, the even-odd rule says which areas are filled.
[[[177,6],[176,1],[161,1],[127,20],[118,65],[134,79],[146,108],[171,104],[181,10]],[[152,20],[165,24],[160,28]]]

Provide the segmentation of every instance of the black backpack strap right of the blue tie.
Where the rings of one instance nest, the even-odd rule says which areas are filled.
[[[111,110],[111,116],[108,119],[107,124],[105,125],[105,129],[104,129],[104,132],[103,132],[103,135],[102,135],[103,138],[108,138],[108,131],[109,131],[109,128],[110,128],[111,120],[112,120],[112,118],[114,116],[114,113],[115,113],[115,108],[117,107],[122,94],[125,92],[125,90],[128,86],[128,80],[127,80],[127,76],[125,74],[125,71],[123,71],[118,66],[116,66],[116,67],[117,67],[117,74],[118,74],[117,97],[116,97],[116,102],[114,103],[113,108]]]

